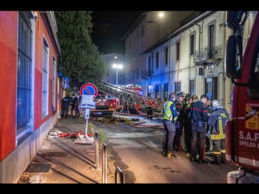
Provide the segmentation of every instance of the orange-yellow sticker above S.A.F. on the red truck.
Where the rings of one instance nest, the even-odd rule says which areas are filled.
[[[246,104],[246,128],[259,130],[258,115],[258,104]]]

